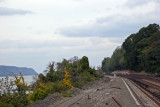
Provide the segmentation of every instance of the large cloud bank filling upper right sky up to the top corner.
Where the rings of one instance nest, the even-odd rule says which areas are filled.
[[[160,19],[159,0],[128,0],[118,11],[86,24],[62,27],[58,32],[69,37],[124,37]]]

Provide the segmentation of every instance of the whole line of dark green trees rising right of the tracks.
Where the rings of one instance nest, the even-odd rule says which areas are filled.
[[[141,28],[137,33],[131,34],[113,52],[111,58],[104,58],[102,70],[146,71],[148,73],[160,72],[160,27],[150,24]]]

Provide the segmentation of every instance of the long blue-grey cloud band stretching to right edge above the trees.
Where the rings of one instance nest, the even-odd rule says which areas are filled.
[[[136,33],[141,27],[156,23],[160,19],[158,11],[148,14],[120,15],[102,17],[92,24],[71,26],[59,29],[59,33],[66,36],[77,37],[124,37]],[[147,16],[147,17],[146,17]]]

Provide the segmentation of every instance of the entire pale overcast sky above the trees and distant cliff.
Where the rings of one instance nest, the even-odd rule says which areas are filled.
[[[160,24],[160,0],[0,0],[0,65],[43,72],[88,56],[101,65],[125,38]]]

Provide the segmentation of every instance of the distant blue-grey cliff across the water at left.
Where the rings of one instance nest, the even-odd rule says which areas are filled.
[[[0,65],[0,77],[20,75],[20,73],[23,76],[38,75],[32,68]]]

